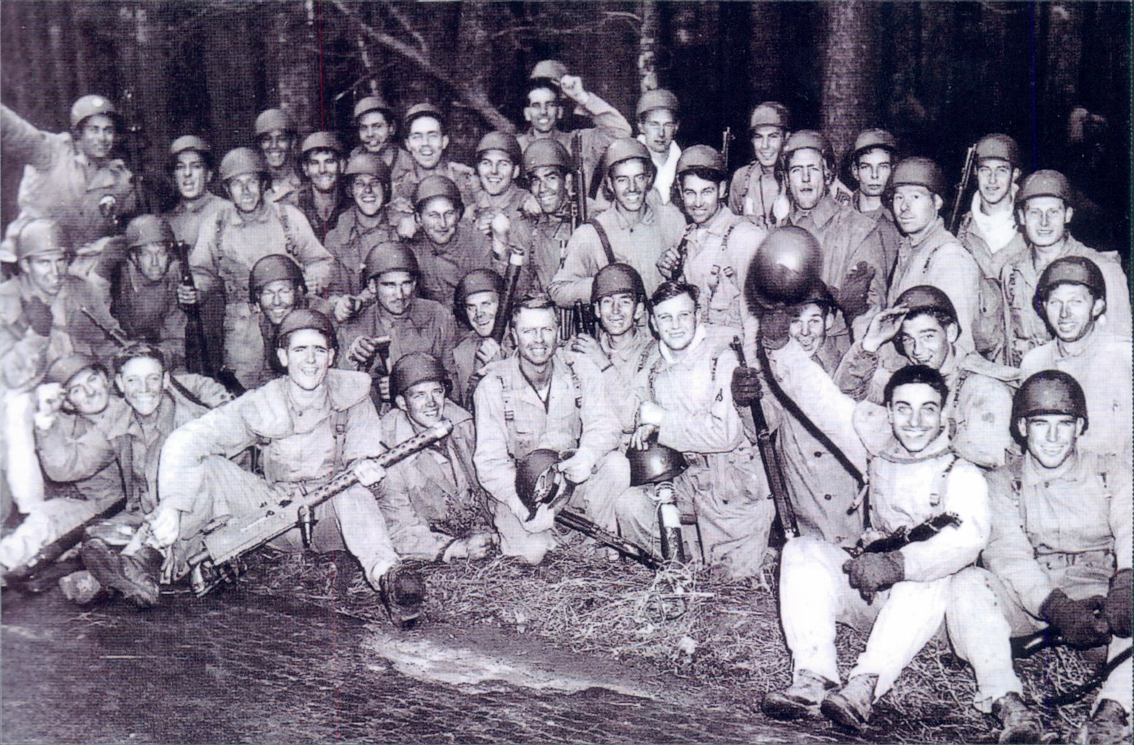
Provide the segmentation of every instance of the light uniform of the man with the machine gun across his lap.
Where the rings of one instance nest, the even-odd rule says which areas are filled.
[[[201,549],[201,533],[213,520],[259,515],[261,505],[293,490],[310,492],[362,458],[382,454],[381,425],[370,401],[370,379],[342,370],[327,372],[322,403],[303,407],[287,378],[215,408],[175,430],[161,450],[160,507],[180,514],[176,556]],[[263,454],[264,477],[228,459],[253,445]],[[373,492],[355,484],[313,510],[312,545],[318,551],[347,549],[369,578],[397,564],[386,522]],[[225,530],[225,528],[219,528]],[[298,550],[296,527],[272,541]]]

